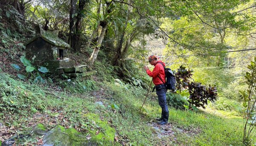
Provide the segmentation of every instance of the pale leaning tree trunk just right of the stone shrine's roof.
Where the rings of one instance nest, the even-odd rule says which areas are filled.
[[[102,40],[104,39],[104,36],[105,36],[105,32],[106,32],[107,27],[108,27],[108,24],[106,24],[106,25],[102,28],[102,30],[101,30],[101,33],[100,33],[99,38],[98,38],[97,43],[96,43],[96,47],[94,48],[93,53],[92,53],[92,55],[90,56],[90,59],[89,59],[90,65],[93,65],[93,64],[94,64],[94,61],[95,61],[96,58],[97,58],[97,55],[98,55],[98,53],[99,53],[99,49],[100,49],[100,46],[101,46],[101,44],[102,44]]]

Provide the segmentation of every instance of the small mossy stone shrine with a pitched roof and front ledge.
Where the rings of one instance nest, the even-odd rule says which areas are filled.
[[[36,34],[24,43],[26,58],[32,60],[34,65],[44,66],[55,75],[65,74],[70,77],[89,76],[94,72],[86,65],[75,65],[75,61],[67,58],[70,45],[58,38],[57,31],[44,31],[36,26]],[[81,74],[82,73],[82,74]]]

